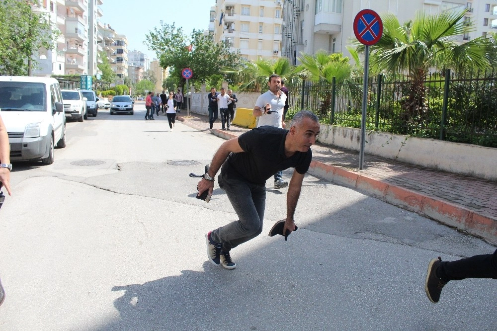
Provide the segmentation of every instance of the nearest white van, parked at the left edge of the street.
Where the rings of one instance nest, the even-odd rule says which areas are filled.
[[[0,110],[10,161],[54,163],[55,145],[66,147],[66,117],[56,79],[0,76]]]

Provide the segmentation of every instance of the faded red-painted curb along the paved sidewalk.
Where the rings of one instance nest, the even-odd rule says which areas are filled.
[[[208,130],[185,120],[181,116],[178,117],[178,120],[192,128]],[[213,135],[224,139],[238,137],[238,135],[220,129],[211,129],[210,131]],[[362,175],[359,172],[345,170],[319,161],[311,162],[309,173],[333,183],[353,188],[361,193],[465,231],[471,235],[481,237],[487,242],[497,245],[497,218],[481,215],[450,202],[436,200],[407,188],[388,184],[379,179]]]

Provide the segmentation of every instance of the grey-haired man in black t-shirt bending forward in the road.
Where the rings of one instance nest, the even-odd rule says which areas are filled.
[[[219,187],[226,192],[239,219],[206,234],[207,253],[213,264],[227,269],[236,267],[231,249],[262,232],[266,179],[289,167],[295,170],[287,193],[283,233],[295,230],[295,208],[319,130],[318,117],[310,111],[300,111],[288,131],[262,126],[226,141],[217,150],[208,172],[197,184],[198,195],[205,190],[212,194],[214,177],[221,168]]]

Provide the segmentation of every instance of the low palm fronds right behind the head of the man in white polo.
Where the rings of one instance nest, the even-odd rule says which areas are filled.
[[[222,72],[235,75],[235,81],[243,82],[239,87],[240,91],[258,92],[267,86],[269,76],[276,74],[289,81],[296,74],[296,68],[290,64],[287,58],[259,59],[245,62],[242,64],[241,70],[224,68]]]

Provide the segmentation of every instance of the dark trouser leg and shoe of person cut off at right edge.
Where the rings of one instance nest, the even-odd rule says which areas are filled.
[[[497,249],[493,254],[474,255],[456,261],[434,258],[428,264],[424,290],[428,299],[437,303],[442,288],[451,280],[466,278],[497,279]]]

